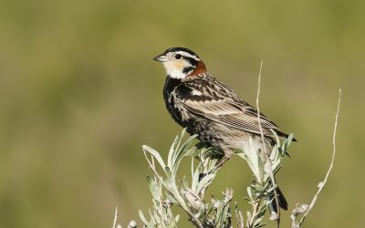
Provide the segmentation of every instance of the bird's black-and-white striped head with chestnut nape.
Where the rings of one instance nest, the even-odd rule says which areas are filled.
[[[203,61],[192,50],[185,47],[172,47],[153,60],[162,63],[168,77],[183,79],[206,72]]]

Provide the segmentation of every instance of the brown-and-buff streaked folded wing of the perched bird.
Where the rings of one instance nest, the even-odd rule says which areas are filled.
[[[183,88],[184,87],[184,88]],[[192,80],[182,85],[185,92],[189,88],[192,96],[180,100],[185,109],[196,115],[238,130],[260,134],[257,110],[238,98],[235,93],[219,81]],[[176,91],[179,94],[179,90]],[[270,130],[278,130],[276,125],[260,114],[264,135],[272,136]]]

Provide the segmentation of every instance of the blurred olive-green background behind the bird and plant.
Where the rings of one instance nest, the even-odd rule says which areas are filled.
[[[299,140],[278,175],[290,211],[328,169],[342,88],[334,171],[305,227],[362,226],[364,12],[333,0],[1,1],[0,227],[110,227],[117,205],[123,224],[147,212],[141,145],[166,155],[181,132],[151,58],[176,46],[251,104],[264,60],[261,109]],[[249,181],[235,158],[212,190],[244,202]]]

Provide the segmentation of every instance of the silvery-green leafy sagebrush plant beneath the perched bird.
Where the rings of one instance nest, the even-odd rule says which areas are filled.
[[[253,172],[253,180],[247,187],[248,196],[245,198],[251,204],[252,210],[245,213],[246,222],[244,223],[244,216],[238,210],[237,203],[235,203],[235,218],[233,218],[230,203],[233,199],[233,190],[227,188],[222,199],[211,197],[208,200],[205,197],[205,190],[212,184],[221,168],[218,163],[219,157],[222,157],[219,155],[223,155],[223,151],[202,147],[202,143],[193,145],[196,135],[183,141],[184,135],[185,130],[173,141],[166,162],[157,150],[146,145],[142,147],[153,172],[153,176],[148,177],[153,202],[148,219],[140,211],[144,225],[146,227],[176,226],[180,216],[172,212],[172,206],[178,206],[188,214],[190,221],[196,227],[232,227],[234,219],[238,227],[264,226],[265,223],[262,223],[262,220],[270,205],[269,195],[272,195],[274,190],[267,167],[271,164],[274,173],[279,170],[293,136],[290,135],[285,140],[279,140],[276,137],[276,145],[269,156],[270,162],[263,159],[262,152],[255,149],[252,140],[250,140],[251,150],[237,151],[236,154],[247,161]],[[177,176],[183,159],[192,160],[190,178],[183,176],[180,179]],[[277,219],[276,216],[271,218]]]

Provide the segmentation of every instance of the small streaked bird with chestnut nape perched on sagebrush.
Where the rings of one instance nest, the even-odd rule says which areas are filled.
[[[249,150],[250,138],[255,149],[262,151],[264,147],[271,151],[275,134],[287,138],[273,121],[209,73],[202,59],[191,49],[171,47],[153,60],[161,62],[166,70],[163,99],[172,119],[190,134],[196,134],[205,145],[223,150],[223,161],[237,150]],[[276,192],[279,206],[287,210],[283,193],[278,188]],[[276,204],[274,211],[277,211]]]

